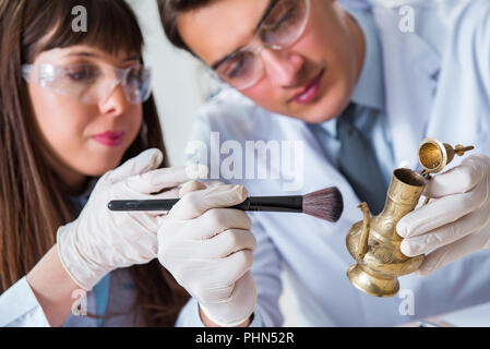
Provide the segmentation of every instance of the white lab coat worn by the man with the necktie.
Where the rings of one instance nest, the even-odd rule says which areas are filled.
[[[452,145],[475,145],[477,152],[490,155],[490,1],[410,3],[415,33],[399,31],[396,8],[372,9],[383,48],[386,113],[396,166],[416,169],[417,148],[426,136]],[[251,214],[258,239],[252,270],[259,288],[255,316],[264,325],[282,324],[278,298],[283,266],[294,285],[302,325],[392,326],[490,301],[489,250],[427,278],[399,278],[397,297],[380,299],[358,291],[346,276],[354,258],[345,237],[350,226],[362,219],[359,200],[325,158],[307,125],[226,91],[201,111],[191,139],[208,143],[211,131],[219,132],[222,143],[238,141],[243,149],[246,141],[301,141],[304,164],[296,171],[303,170],[304,185],[297,193],[335,184],[344,195],[345,210],[336,224],[302,214]],[[222,154],[222,160],[227,156]],[[191,158],[204,159],[202,151]],[[208,154],[206,160],[213,165]],[[451,167],[459,161],[455,158]],[[229,182],[243,183],[250,195],[284,193],[283,180]],[[189,324],[195,324],[199,316],[194,305],[181,315]]]

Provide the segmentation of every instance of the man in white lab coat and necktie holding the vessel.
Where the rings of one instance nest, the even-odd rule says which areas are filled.
[[[225,179],[244,184],[250,195],[280,195],[285,178],[304,176],[295,193],[334,183],[344,195],[336,224],[304,215],[252,216],[252,325],[282,324],[283,267],[304,325],[392,326],[490,301],[490,158],[482,155],[490,154],[490,2],[407,3],[159,0],[170,41],[232,87],[203,108],[193,140],[211,153],[215,143],[228,142],[218,151],[222,160],[239,149],[237,143],[303,145],[301,166],[279,178]],[[383,208],[395,168],[418,168],[417,148],[428,136],[475,145],[481,154],[456,158],[453,170],[428,184],[425,195],[434,200],[397,225],[402,252],[427,255],[417,272],[426,277],[402,277],[402,299],[367,296],[346,277],[354,260],[345,236],[362,219],[359,202],[373,214]],[[208,148],[192,159],[213,163]],[[256,165],[267,164],[262,156]],[[247,293],[253,285],[236,288]],[[231,298],[224,302],[238,306]],[[189,303],[182,324],[201,324],[198,309]]]

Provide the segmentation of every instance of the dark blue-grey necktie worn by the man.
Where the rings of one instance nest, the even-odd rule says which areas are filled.
[[[384,207],[387,185],[371,143],[354,124],[355,110],[350,104],[337,119],[338,168],[360,201],[377,215]]]

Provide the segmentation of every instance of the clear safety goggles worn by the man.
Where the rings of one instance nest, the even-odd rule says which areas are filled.
[[[260,57],[264,48],[286,49],[304,33],[311,0],[278,0],[272,3],[252,41],[212,67],[220,79],[237,89],[253,86],[264,75],[264,63]]]

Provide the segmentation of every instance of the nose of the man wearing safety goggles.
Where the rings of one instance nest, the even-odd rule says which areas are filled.
[[[273,50],[265,48],[261,52],[271,83],[274,86],[291,87],[297,83],[298,72],[304,64],[300,55],[287,50]]]

